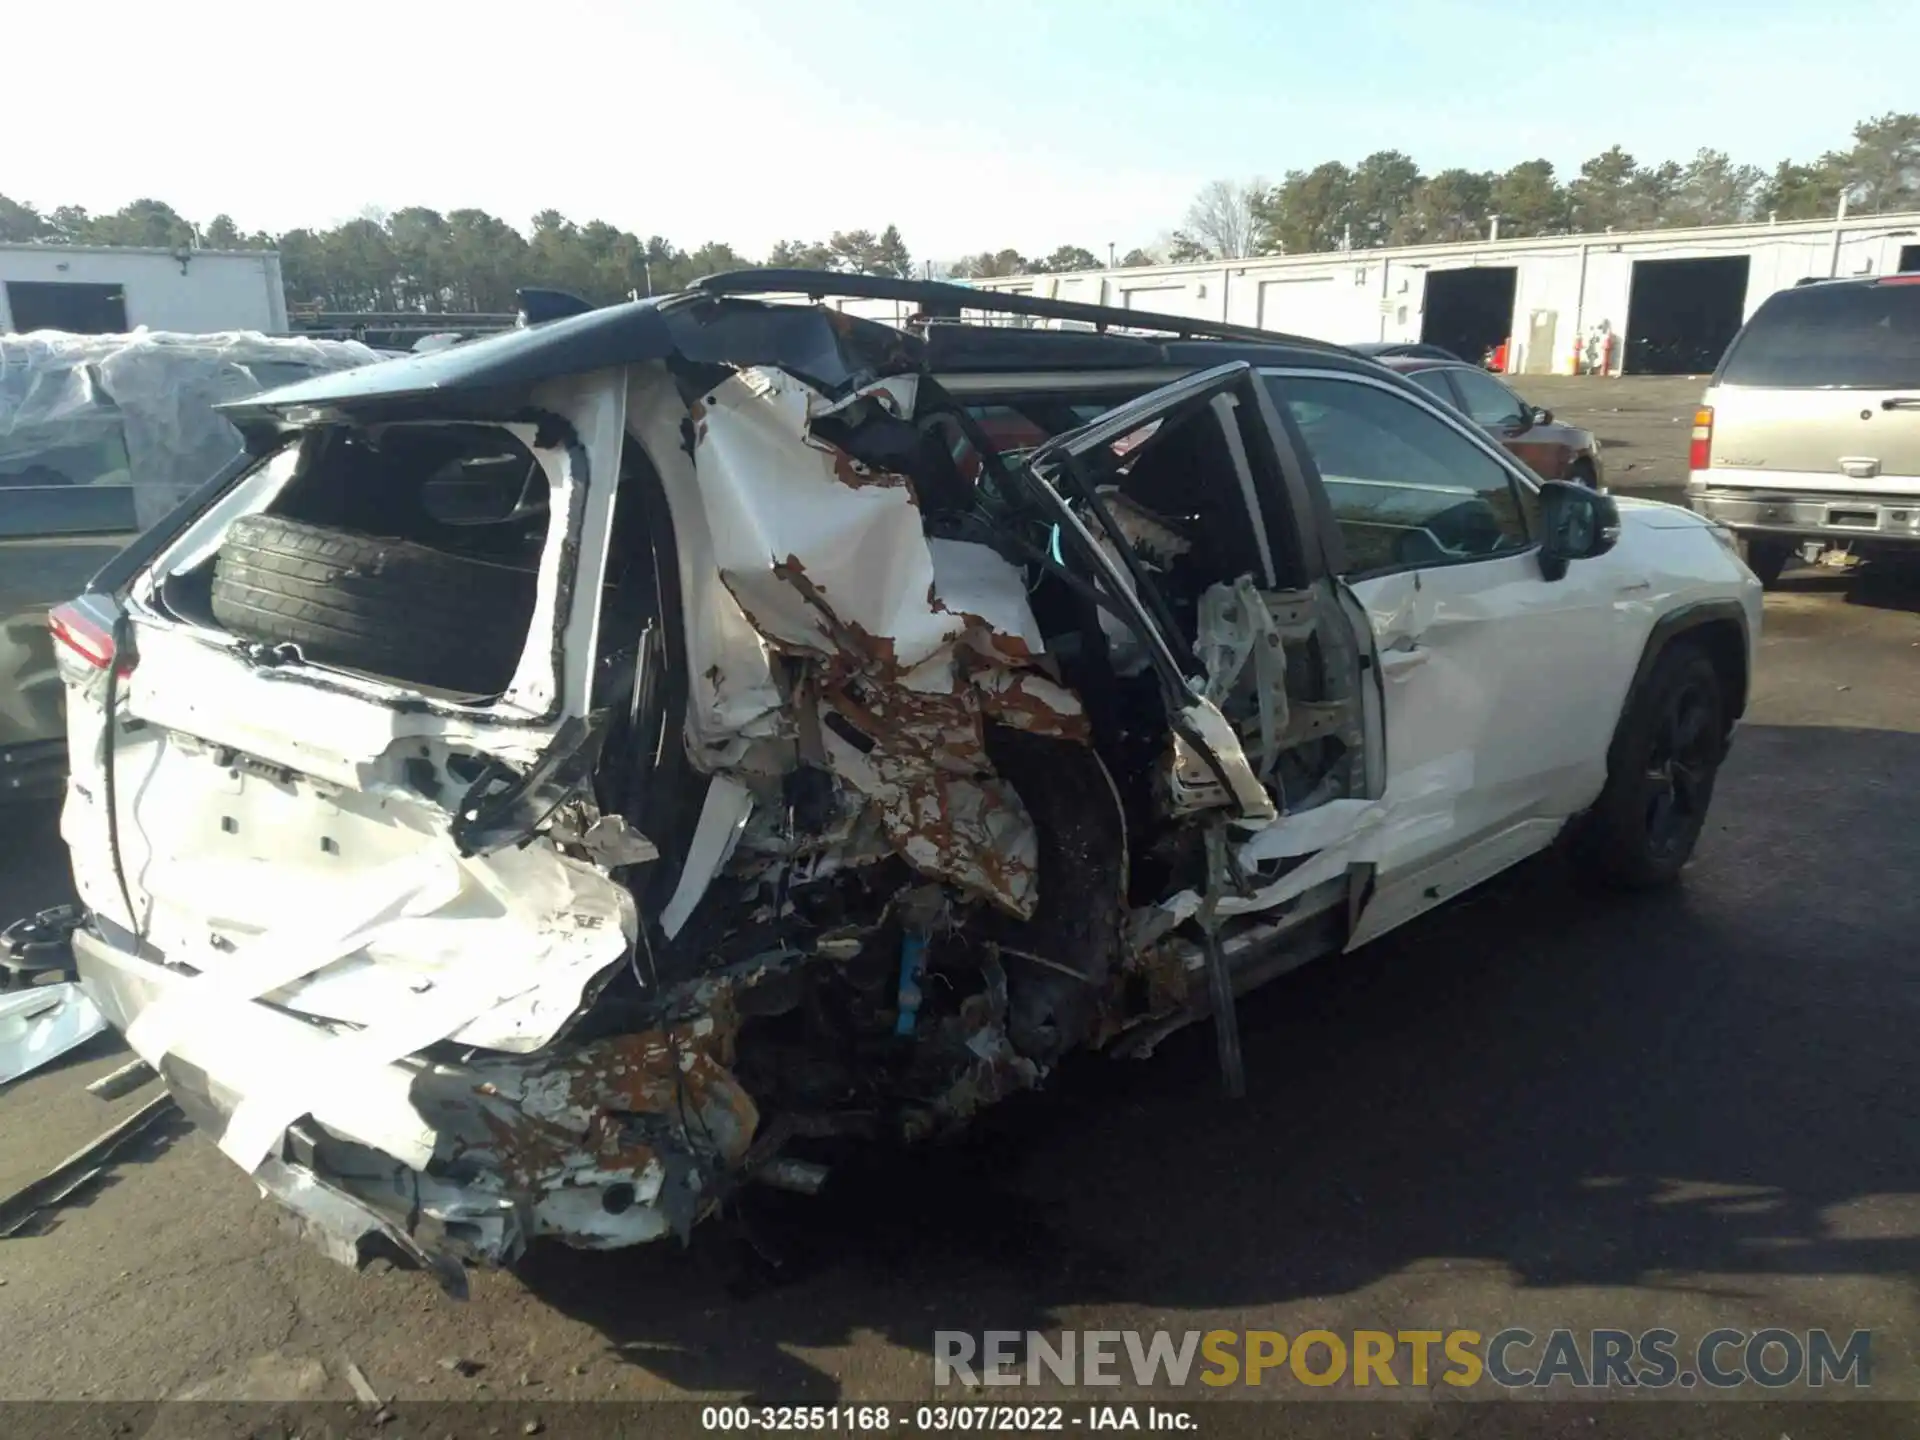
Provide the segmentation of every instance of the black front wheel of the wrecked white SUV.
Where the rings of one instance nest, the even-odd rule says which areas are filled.
[[[1588,812],[1578,858],[1622,889],[1657,889],[1693,856],[1726,755],[1726,689],[1703,649],[1674,641],[1607,753],[1607,787]]]

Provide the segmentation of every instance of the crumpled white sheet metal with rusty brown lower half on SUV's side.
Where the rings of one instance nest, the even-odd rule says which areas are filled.
[[[1085,739],[1087,718],[1035,668],[1044,641],[1020,570],[985,545],[929,541],[906,476],[810,434],[854,399],[904,413],[899,384],[831,407],[778,371],[716,386],[695,430],[714,561],[766,641],[806,662],[797,703],[820,722],[816,758],[874,804],[895,849],[1027,918],[1039,837],[993,772],[983,722]]]

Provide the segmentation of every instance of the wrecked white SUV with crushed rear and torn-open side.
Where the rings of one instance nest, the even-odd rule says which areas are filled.
[[[950,319],[753,298],[808,286]],[[228,415],[52,620],[79,973],[332,1254],[451,1288],[1196,1018],[1235,1089],[1236,991],[1563,831],[1672,879],[1761,618],[1701,518],[1350,351],[937,284]]]

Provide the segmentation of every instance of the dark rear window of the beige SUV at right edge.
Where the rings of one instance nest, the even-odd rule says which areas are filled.
[[[1747,321],[1715,382],[1761,390],[1920,386],[1920,286],[1782,290]]]

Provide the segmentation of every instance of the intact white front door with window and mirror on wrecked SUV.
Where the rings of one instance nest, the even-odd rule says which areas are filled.
[[[1609,563],[1548,580],[1536,482],[1440,403],[1354,372],[1269,386],[1319,470],[1380,657],[1394,818],[1359,945],[1542,849],[1594,801],[1611,682],[1638,636],[1617,605],[1634,580]]]

